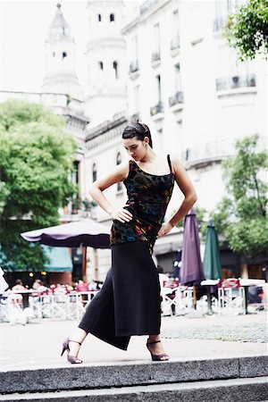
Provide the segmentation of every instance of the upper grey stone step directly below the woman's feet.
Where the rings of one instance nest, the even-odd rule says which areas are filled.
[[[266,364],[265,364],[266,362]],[[261,377],[268,373],[268,356],[170,361],[70,365],[0,372],[0,393],[58,389],[94,389],[135,385]]]

